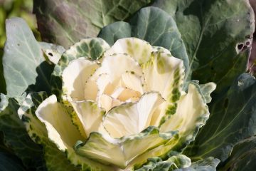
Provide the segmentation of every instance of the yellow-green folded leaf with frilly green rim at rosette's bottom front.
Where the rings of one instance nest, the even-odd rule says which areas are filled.
[[[105,164],[114,164],[126,170],[132,170],[137,156],[173,139],[176,132],[159,134],[159,129],[149,127],[137,135],[121,139],[110,138],[100,133],[91,133],[86,142],[78,142],[76,152]],[[110,152],[111,151],[111,152]],[[166,151],[168,152],[168,151]],[[133,161],[133,165],[129,162]],[[129,165],[129,167],[127,167]]]

